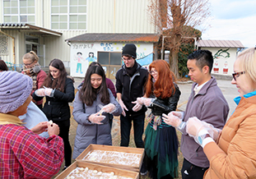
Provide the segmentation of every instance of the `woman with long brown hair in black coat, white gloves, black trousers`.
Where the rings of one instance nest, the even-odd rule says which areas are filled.
[[[43,112],[49,120],[59,126],[59,136],[64,141],[65,168],[71,165],[72,149],[69,144],[70,108],[68,103],[75,97],[72,77],[67,76],[64,64],[59,59],[49,63],[49,74],[44,80],[43,88],[35,90],[36,101],[46,97]]]

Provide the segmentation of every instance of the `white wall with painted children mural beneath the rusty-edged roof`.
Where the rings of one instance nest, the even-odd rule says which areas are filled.
[[[98,52],[122,52],[122,43],[72,43],[70,57],[70,74],[84,77],[91,62],[98,62]],[[153,44],[135,44],[137,46],[137,62],[147,67],[153,61]],[[121,64],[121,59],[120,59]],[[105,67],[107,68],[107,67]],[[119,69],[114,69],[118,71]],[[107,69],[105,69],[107,71]],[[112,70],[113,71],[113,70]],[[115,76],[115,72],[112,75]]]

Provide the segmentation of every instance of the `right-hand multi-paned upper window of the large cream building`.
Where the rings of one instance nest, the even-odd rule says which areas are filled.
[[[53,30],[86,30],[87,0],[52,0]]]

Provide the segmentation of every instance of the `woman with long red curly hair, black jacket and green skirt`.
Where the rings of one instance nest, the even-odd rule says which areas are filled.
[[[151,62],[145,95],[137,98],[137,108],[151,108],[145,131],[145,163],[151,178],[178,177],[178,145],[175,128],[165,124],[162,114],[175,111],[179,101],[179,87],[175,75],[164,60]],[[136,108],[134,107],[134,110]]]

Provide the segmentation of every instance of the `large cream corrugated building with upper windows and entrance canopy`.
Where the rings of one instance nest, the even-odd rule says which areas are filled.
[[[68,67],[73,55],[65,40],[79,34],[156,34],[156,25],[148,16],[149,2],[0,0],[0,57],[5,62],[21,64],[23,55],[33,50],[39,55],[41,66],[59,58]]]

